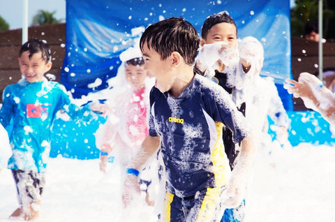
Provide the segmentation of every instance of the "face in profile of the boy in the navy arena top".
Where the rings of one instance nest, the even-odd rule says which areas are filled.
[[[155,87],[162,93],[169,91],[176,80],[177,73],[173,72],[172,57],[165,60],[161,59],[161,55],[145,43],[142,47],[144,59],[144,68],[156,78]]]

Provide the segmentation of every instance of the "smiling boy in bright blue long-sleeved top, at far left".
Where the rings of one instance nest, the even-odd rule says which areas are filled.
[[[92,115],[88,108],[79,109],[71,104],[61,84],[43,77],[52,67],[50,49],[43,40],[24,43],[18,60],[24,78],[3,91],[0,124],[6,128],[13,120],[13,155],[8,168],[13,172],[20,207],[10,217],[29,221],[38,217],[56,113],[64,109],[73,119],[87,121]]]

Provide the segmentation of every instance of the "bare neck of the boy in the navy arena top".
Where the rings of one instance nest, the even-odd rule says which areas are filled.
[[[170,94],[174,98],[177,98],[182,91],[192,82],[194,73],[193,66],[185,66],[184,68],[179,68],[178,75],[174,84],[170,89]]]

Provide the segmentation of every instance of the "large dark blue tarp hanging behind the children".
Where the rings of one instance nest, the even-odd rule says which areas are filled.
[[[291,76],[289,1],[66,0],[66,57],[61,82],[75,98],[105,89],[106,80],[117,74],[119,54],[138,37],[134,28],[182,16],[201,33],[206,17],[223,10],[235,20],[239,38],[254,36],[264,45],[262,75],[275,78],[285,108],[292,110],[291,96],[282,86]]]

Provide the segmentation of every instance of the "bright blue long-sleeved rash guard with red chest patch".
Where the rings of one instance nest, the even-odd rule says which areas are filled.
[[[50,153],[50,134],[57,111],[63,108],[72,119],[91,118],[88,109],[70,103],[65,88],[57,82],[30,83],[24,78],[3,91],[0,124],[13,119],[8,168],[44,172]]]

